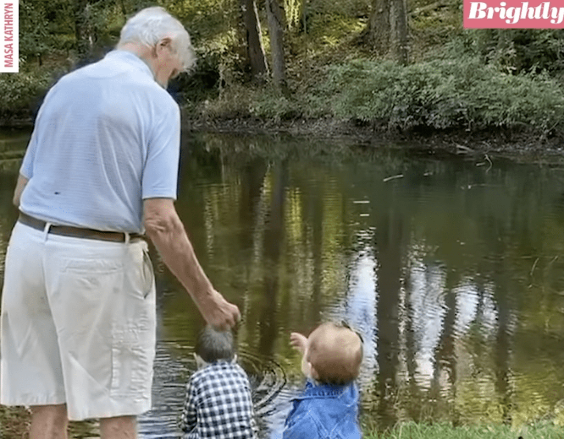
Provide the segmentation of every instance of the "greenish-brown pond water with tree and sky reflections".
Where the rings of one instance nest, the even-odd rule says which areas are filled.
[[[5,135],[0,152],[23,149]],[[0,258],[19,161],[0,161]],[[184,136],[177,209],[243,314],[241,363],[265,436],[303,378],[292,331],[364,338],[363,419],[564,422],[564,165],[292,138]],[[153,249],[154,250],[154,249]],[[152,252],[158,346],[139,436],[179,437],[203,325]],[[0,272],[0,276],[2,272]],[[73,423],[73,437],[96,437]]]

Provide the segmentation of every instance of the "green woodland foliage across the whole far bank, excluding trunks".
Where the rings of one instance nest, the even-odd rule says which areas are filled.
[[[383,61],[343,63],[363,56],[355,36],[362,34],[373,1],[283,3],[289,26],[288,82],[294,90],[290,97],[270,86],[241,87],[249,79],[249,66],[239,0],[90,0],[85,14],[94,42],[92,59],[117,42],[127,17],[161,5],[190,31],[198,54],[193,72],[180,77],[174,89],[187,107],[205,116],[273,121],[335,117],[402,130],[522,127],[545,135],[559,128],[562,87],[552,77],[564,76],[563,29],[462,30],[461,0],[431,9],[430,0],[413,0],[410,10],[423,11],[412,16],[414,45],[425,53],[431,53],[426,45],[444,46],[442,55],[435,52],[405,68]],[[74,4],[21,0],[23,73],[2,77],[0,87],[7,96],[0,104],[2,114],[26,108],[49,85],[48,72],[68,70],[76,60]],[[268,51],[266,15],[263,4],[257,6]],[[35,63],[45,73],[25,73]]]

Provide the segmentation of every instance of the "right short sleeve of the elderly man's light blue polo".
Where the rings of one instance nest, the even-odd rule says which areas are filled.
[[[177,198],[180,158],[180,109],[171,104],[149,134],[142,197]]]

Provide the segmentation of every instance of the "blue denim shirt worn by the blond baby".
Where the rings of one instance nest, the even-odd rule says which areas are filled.
[[[308,380],[293,400],[284,425],[284,439],[360,439],[359,393],[356,385],[319,384]]]

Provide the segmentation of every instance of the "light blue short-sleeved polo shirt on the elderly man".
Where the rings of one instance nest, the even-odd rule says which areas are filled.
[[[20,173],[21,211],[54,224],[143,233],[143,199],[177,197],[180,109],[131,52],[59,80]]]

